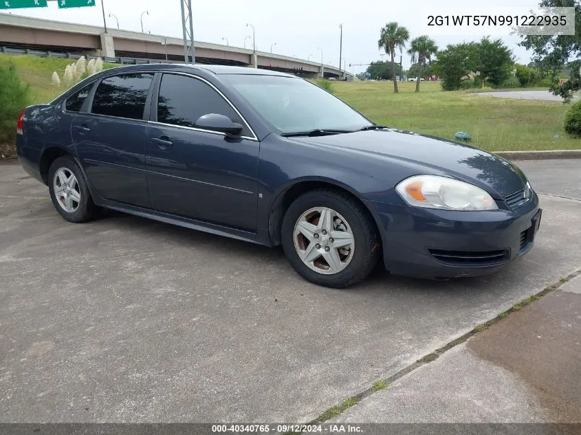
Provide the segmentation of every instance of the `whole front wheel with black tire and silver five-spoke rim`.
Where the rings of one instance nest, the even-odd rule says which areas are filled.
[[[283,219],[292,267],[325,287],[347,287],[377,264],[379,243],[369,212],[349,194],[320,189],[298,197]]]

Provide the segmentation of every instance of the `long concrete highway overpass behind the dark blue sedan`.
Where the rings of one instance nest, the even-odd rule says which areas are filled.
[[[0,13],[0,47],[84,54],[88,56],[140,58],[169,62],[184,62],[182,38],[144,34],[128,30],[108,29],[75,23],[63,23]],[[338,67],[280,54],[256,52],[195,41],[196,63],[239,65],[272,69],[304,77],[340,78]],[[341,71],[351,80],[351,73]]]

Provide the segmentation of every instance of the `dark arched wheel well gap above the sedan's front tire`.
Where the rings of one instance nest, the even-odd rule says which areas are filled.
[[[325,181],[302,181],[285,190],[285,192],[276,198],[274,204],[272,205],[268,219],[268,230],[270,233],[270,241],[274,246],[281,244],[281,228],[283,226],[283,217],[285,216],[285,212],[287,211],[287,208],[289,208],[289,205],[291,205],[295,199],[300,197],[300,195],[309,192],[310,190],[320,188],[328,188],[330,190],[335,190],[336,192],[348,194],[350,197],[355,199],[355,201],[358,201],[358,203],[363,206],[364,210],[369,213],[369,217],[371,217],[371,221],[373,222],[373,225],[375,225],[375,231],[379,235],[379,231],[377,230],[377,223],[375,222],[375,219],[373,219],[369,208],[367,208],[363,201],[361,201],[353,193],[349,192],[349,190],[341,188],[333,183],[327,183]]]

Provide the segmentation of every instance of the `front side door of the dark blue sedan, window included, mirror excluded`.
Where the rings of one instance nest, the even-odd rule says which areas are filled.
[[[244,126],[237,136],[195,128],[219,113]],[[203,78],[163,74],[147,128],[146,165],[156,210],[256,231],[259,142],[222,93]]]

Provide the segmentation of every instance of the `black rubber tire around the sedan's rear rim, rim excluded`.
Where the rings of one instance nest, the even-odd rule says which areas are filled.
[[[54,175],[60,168],[66,168],[74,174],[77,181],[78,192],[80,193],[80,201],[78,201],[78,208],[74,212],[67,212],[58,202],[54,192]],[[83,223],[94,219],[96,214],[96,206],[87,187],[85,176],[76,164],[72,157],[63,156],[55,159],[48,170],[48,189],[50,192],[50,199],[56,211],[63,216],[67,221],[73,223]]]

